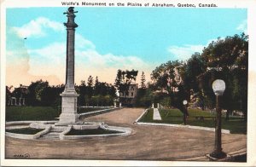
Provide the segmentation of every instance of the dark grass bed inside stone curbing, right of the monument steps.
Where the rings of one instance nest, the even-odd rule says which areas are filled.
[[[119,131],[103,130],[98,128],[96,130],[71,130],[67,135],[104,135],[104,134],[117,134]]]

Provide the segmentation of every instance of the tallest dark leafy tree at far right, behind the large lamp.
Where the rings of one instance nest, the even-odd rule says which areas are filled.
[[[226,89],[224,91],[223,108],[229,112],[241,109],[247,119],[247,66],[248,66],[248,37],[242,33],[240,36],[218,37],[212,41],[201,54],[207,63],[207,72],[201,74],[201,78],[224,79]],[[207,86],[203,86],[207,93]],[[208,94],[207,94],[208,95]],[[244,104],[238,107],[236,104]]]

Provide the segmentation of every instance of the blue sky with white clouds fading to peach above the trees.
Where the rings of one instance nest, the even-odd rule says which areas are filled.
[[[8,85],[29,84],[38,78],[63,83],[66,10],[7,9]],[[119,68],[144,71],[149,81],[155,66],[167,60],[187,60],[217,37],[247,32],[247,9],[76,10],[76,83],[89,75],[113,83]],[[22,70],[17,71],[21,65]],[[26,78],[12,79],[22,72]]]

